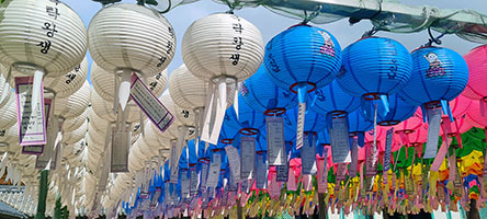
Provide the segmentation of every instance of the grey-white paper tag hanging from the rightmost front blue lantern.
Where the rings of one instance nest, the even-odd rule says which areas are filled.
[[[438,150],[438,141],[441,126],[441,107],[428,110],[428,139],[423,158],[434,158]]]

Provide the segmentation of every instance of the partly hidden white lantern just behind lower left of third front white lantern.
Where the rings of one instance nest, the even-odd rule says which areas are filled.
[[[186,66],[182,65],[169,77],[169,92],[178,106],[194,110],[205,106],[208,84],[192,74]]]

